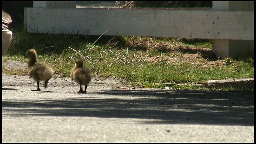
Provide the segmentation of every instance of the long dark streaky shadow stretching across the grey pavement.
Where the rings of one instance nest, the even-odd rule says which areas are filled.
[[[57,100],[2,100],[4,114],[143,118],[152,124],[254,126],[254,95],[253,92],[207,90],[109,90]]]

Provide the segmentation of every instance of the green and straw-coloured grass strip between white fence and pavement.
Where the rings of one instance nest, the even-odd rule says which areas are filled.
[[[125,79],[128,84],[147,88],[165,88],[164,83],[203,84],[207,80],[254,77],[253,55],[219,60],[211,53],[211,40],[30,34],[22,27],[12,31],[15,35],[5,61],[28,62],[24,55],[33,48],[39,54],[38,60],[52,65],[55,73],[63,77],[69,76],[79,57],[84,58],[84,66],[95,75],[114,76]],[[27,71],[3,66],[2,73],[26,75]],[[172,88],[199,87],[177,85]]]

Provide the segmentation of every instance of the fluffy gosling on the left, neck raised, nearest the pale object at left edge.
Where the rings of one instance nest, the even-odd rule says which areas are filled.
[[[47,88],[48,80],[52,78],[54,70],[44,62],[37,62],[36,50],[30,49],[26,52],[26,56],[29,58],[28,62],[28,74],[29,77],[37,82],[37,89],[32,91],[41,91],[39,88],[39,81],[44,80],[44,88]]]

